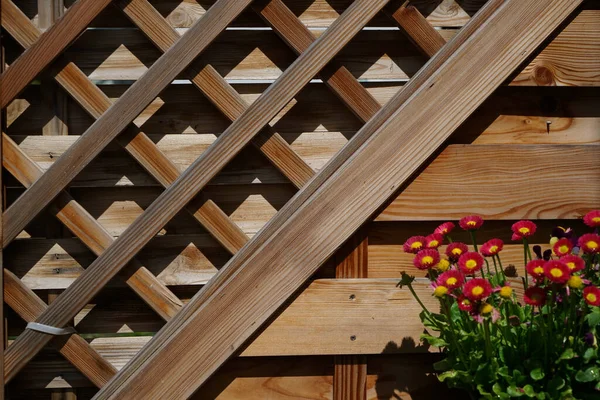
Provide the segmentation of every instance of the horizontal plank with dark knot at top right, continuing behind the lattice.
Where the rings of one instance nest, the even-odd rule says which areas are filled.
[[[185,29],[183,30],[185,31]],[[66,52],[90,78],[136,80],[160,52],[136,29],[88,30]],[[446,40],[456,30],[440,31]],[[582,11],[513,81],[515,85],[600,85],[600,10]],[[318,36],[322,31],[314,31]],[[19,52],[7,44],[9,62]],[[203,54],[229,80],[272,80],[296,59],[272,31],[226,31]],[[362,31],[336,60],[357,78],[406,80],[426,58],[398,30]]]

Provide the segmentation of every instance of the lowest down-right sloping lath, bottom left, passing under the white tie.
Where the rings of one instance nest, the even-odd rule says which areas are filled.
[[[47,304],[9,270],[4,269],[3,276],[6,304],[26,322],[35,321],[48,308]],[[63,340],[57,338],[54,342]],[[58,345],[59,352],[97,387],[104,386],[117,373],[112,364],[76,333]]]

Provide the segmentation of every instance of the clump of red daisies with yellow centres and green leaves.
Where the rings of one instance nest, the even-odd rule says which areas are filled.
[[[584,222],[595,231],[576,238],[558,227],[544,252],[528,242],[536,225],[515,223],[512,240],[523,243],[520,281],[514,266],[502,266],[502,240],[477,245],[478,216],[459,222],[473,251],[452,241],[451,222],[430,236],[408,239],[404,251],[427,271],[441,311],[425,307],[413,276],[403,272],[399,286],[407,286],[423,308],[428,333],[421,339],[445,355],[434,365],[440,381],[472,398],[600,399],[600,211]]]

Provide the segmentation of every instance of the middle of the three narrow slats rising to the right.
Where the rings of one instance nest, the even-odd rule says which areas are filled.
[[[46,173],[4,212],[4,245],[10,243],[35,215],[125,129],[250,1],[217,1],[203,18],[96,120]],[[146,147],[145,150],[149,148]]]

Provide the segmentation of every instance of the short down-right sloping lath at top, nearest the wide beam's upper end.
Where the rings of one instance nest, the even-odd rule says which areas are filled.
[[[433,57],[446,44],[444,37],[415,7],[400,7],[391,16],[428,57]]]

